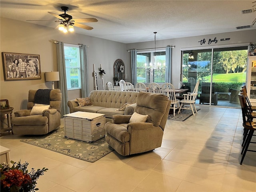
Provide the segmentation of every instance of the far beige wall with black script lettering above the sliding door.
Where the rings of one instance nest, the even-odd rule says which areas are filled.
[[[212,42],[208,45],[208,40],[210,39],[218,39],[217,43]],[[200,45],[200,40],[206,39],[206,43]],[[220,41],[222,38],[230,38],[227,41]],[[154,34],[152,33],[152,39],[154,39]],[[156,34],[157,39],[157,34]],[[247,43],[256,42],[256,30],[238,30],[237,32],[229,32],[229,33],[220,33],[220,34],[211,34],[204,36],[194,36],[187,38],[176,38],[176,39],[167,39],[167,40],[159,40],[156,42],[156,47],[166,47],[168,45],[175,46],[172,48],[172,84],[175,87],[179,86],[180,76],[181,76],[181,48],[211,48],[212,46],[222,46],[230,44],[239,44],[239,43]],[[126,49],[146,49],[146,48],[154,48],[154,41],[150,42],[141,42],[141,43],[132,43],[126,44]],[[130,63],[130,53],[126,53],[128,55],[127,62]]]

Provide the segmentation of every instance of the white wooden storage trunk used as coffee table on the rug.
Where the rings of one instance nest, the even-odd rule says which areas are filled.
[[[94,142],[105,136],[105,114],[74,112],[64,115],[66,138]]]

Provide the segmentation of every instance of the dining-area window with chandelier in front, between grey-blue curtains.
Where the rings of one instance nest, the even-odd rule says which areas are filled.
[[[137,52],[137,82],[164,83],[166,69],[165,50]]]

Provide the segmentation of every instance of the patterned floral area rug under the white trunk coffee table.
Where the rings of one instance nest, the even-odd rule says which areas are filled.
[[[105,137],[93,143],[65,138],[64,128],[21,141],[88,162],[95,162],[114,150],[108,146]]]

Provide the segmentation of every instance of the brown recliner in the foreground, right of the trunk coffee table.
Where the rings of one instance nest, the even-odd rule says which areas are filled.
[[[112,122],[105,124],[106,142],[122,156],[154,150],[162,144],[170,100],[162,94],[139,92],[136,104],[136,113],[148,115],[146,122],[130,122],[133,114],[113,115]]]

